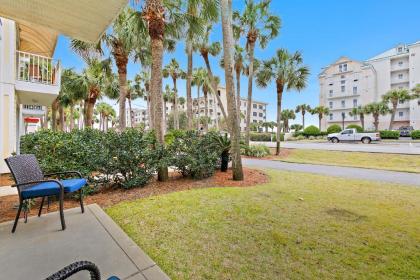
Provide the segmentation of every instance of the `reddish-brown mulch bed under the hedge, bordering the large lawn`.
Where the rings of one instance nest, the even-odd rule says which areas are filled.
[[[88,196],[84,199],[85,205],[97,203],[101,207],[109,207],[122,201],[130,201],[139,198],[145,198],[154,195],[161,195],[176,191],[200,189],[208,187],[250,187],[258,184],[264,184],[269,181],[268,176],[260,171],[250,168],[244,168],[243,181],[232,180],[232,170],[228,172],[216,172],[216,174],[207,179],[193,180],[183,178],[178,173],[171,173],[170,179],[166,182],[158,182],[153,179],[149,184],[143,188],[134,188],[130,190],[123,190],[120,188],[104,189],[94,195]],[[10,183],[9,183],[10,185]],[[32,206],[29,216],[35,216],[38,213],[40,199],[36,199],[35,205]],[[16,206],[18,204],[17,195],[9,195],[0,197],[0,222],[13,220],[16,216]],[[78,201],[67,199],[64,202],[66,209],[79,207]],[[48,212],[58,210],[58,203],[52,203]],[[44,204],[43,213],[46,213],[46,203]],[[23,217],[23,214],[21,215]]]

